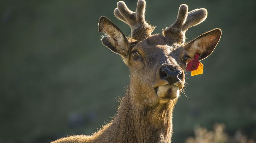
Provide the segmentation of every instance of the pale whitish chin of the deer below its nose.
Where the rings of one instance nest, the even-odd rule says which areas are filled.
[[[157,96],[160,97],[163,102],[176,99],[179,95],[180,90],[176,85],[161,85],[157,90]]]

